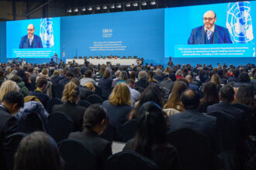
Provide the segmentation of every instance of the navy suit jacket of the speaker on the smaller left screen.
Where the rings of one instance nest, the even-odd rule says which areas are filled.
[[[19,49],[30,49],[30,48],[43,48],[42,40],[40,36],[34,35],[32,46],[29,46],[28,36],[23,36],[19,43]]]

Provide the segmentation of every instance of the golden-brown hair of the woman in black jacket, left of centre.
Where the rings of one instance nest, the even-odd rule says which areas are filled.
[[[63,93],[62,93],[62,99],[64,102],[71,102],[75,103],[79,95],[78,87],[72,83],[69,82],[66,84]]]

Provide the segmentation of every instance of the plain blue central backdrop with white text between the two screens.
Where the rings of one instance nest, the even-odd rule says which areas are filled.
[[[164,9],[63,17],[61,55],[138,56],[163,63]]]

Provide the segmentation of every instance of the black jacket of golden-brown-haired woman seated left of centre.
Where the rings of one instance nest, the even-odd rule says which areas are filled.
[[[86,109],[86,107],[67,102],[66,104],[55,105],[53,112],[62,111],[64,114],[67,114],[67,116],[71,117],[71,120],[74,121],[74,131],[81,131]]]

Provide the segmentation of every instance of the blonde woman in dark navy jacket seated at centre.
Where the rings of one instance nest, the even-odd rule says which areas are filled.
[[[128,114],[132,110],[130,90],[125,83],[118,83],[112,90],[109,100],[103,102],[109,115],[109,122],[116,128],[116,140],[122,140],[121,127],[127,121]]]

